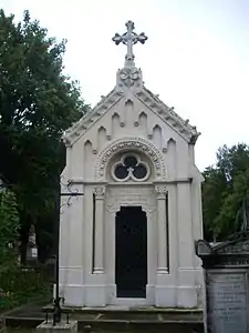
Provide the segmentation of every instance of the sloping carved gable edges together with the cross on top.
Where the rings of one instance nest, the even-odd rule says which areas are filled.
[[[142,71],[134,63],[133,44],[137,42],[144,43],[147,37],[144,33],[135,33],[133,31],[134,23],[131,21],[126,23],[126,27],[128,29],[127,32],[122,36],[116,33],[113,38],[116,44],[124,43],[127,46],[125,64],[123,69],[117,71],[115,88],[106,97],[103,97],[94,109],[90,110],[80,121],[64,132],[63,141],[65,145],[72,147],[93,125],[101,122],[106,113],[112,112],[122,99],[124,100],[123,104],[138,100],[143,105],[142,109],[145,108],[147,112],[156,114],[159,121],[167,124],[187,143],[195,144],[200,134],[196,128],[191,127],[188,120],[181,119],[174,111],[174,108],[169,108],[160,101],[158,95],[145,88]]]

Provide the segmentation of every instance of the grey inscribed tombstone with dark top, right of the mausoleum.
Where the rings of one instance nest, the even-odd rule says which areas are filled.
[[[196,243],[206,282],[206,332],[249,333],[249,231]]]

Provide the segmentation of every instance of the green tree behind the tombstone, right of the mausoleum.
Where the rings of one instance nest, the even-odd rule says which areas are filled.
[[[243,199],[249,199],[249,147],[224,145],[217,152],[217,164],[207,168],[204,176],[205,238],[224,240],[239,230],[238,212]]]

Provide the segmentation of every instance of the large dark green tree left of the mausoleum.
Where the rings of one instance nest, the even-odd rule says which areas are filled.
[[[61,134],[86,105],[63,72],[65,41],[49,38],[28,11],[22,22],[13,19],[0,10],[0,173],[17,195],[24,261],[30,225],[42,239],[44,220],[55,215]]]

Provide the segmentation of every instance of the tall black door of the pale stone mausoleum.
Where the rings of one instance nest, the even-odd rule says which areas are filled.
[[[115,225],[116,296],[146,299],[146,213],[142,206],[121,206]]]

